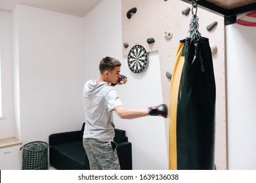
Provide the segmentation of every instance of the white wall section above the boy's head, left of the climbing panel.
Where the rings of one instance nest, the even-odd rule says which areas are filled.
[[[99,3],[84,18],[84,42],[87,76],[99,76],[98,64],[106,56],[121,61],[121,1]]]

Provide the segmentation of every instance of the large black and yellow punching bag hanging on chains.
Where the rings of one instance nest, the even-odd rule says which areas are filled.
[[[207,38],[180,41],[170,96],[169,169],[214,169],[216,89]]]

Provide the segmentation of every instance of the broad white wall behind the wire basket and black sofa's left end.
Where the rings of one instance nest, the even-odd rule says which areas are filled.
[[[20,113],[16,136],[24,144],[48,142],[51,133],[80,129],[86,75],[83,18],[24,5],[17,5],[13,16]]]

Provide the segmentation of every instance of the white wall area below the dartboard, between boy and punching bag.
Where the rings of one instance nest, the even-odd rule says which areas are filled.
[[[163,103],[160,57],[150,52],[148,66],[143,73],[129,71],[127,58],[123,59],[123,73],[129,82],[117,88],[123,105],[129,108],[147,108]],[[127,131],[133,148],[133,169],[169,169],[164,118],[147,116],[134,120],[115,118],[116,126]]]

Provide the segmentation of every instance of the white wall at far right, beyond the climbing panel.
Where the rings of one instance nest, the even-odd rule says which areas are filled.
[[[226,26],[228,169],[256,169],[256,27]]]

